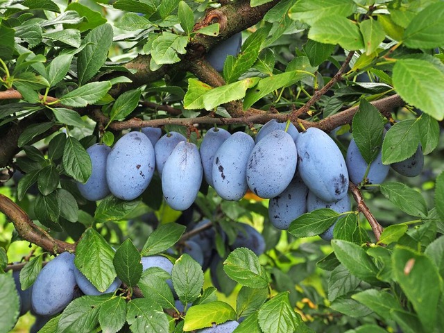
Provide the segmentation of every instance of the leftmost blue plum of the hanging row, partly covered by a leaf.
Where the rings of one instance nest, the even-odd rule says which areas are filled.
[[[105,144],[93,144],[86,151],[91,157],[92,173],[85,184],[77,182],[77,187],[83,198],[91,201],[101,200],[110,194],[106,181],[106,160],[111,148]]]

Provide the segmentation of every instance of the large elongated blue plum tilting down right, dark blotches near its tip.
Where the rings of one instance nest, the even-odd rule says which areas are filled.
[[[340,200],[347,194],[347,167],[331,137],[312,127],[299,133],[296,148],[300,178],[310,191],[327,202]]]

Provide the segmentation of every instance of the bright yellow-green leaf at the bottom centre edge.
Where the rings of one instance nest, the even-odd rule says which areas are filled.
[[[185,332],[198,330],[199,328],[211,327],[213,323],[221,324],[225,321],[235,321],[236,312],[225,302],[216,300],[205,304],[194,305],[187,311],[185,316]]]

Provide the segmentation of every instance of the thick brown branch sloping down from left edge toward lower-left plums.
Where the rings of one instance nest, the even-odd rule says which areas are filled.
[[[46,231],[35,225],[21,207],[3,194],[0,194],[0,212],[3,212],[14,223],[15,230],[23,239],[38,244],[49,253],[55,254],[65,251],[74,253],[76,250],[74,244],[54,239]]]

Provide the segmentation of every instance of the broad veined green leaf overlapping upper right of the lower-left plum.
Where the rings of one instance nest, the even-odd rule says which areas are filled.
[[[88,228],[78,242],[74,263],[94,287],[103,292],[117,276],[112,263],[113,257],[114,250],[103,236]]]

